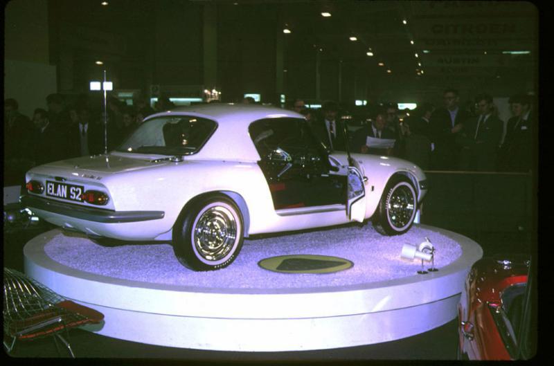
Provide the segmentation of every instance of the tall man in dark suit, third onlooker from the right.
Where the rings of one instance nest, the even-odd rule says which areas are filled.
[[[436,170],[456,170],[460,147],[456,136],[470,113],[459,107],[460,97],[456,89],[447,89],[443,94],[445,107],[437,109],[431,116],[431,131],[435,149],[431,154],[432,167]]]

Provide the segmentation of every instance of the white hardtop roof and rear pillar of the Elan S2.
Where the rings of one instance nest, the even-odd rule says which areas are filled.
[[[195,104],[155,113],[145,120],[159,116],[188,115],[217,122],[217,129],[204,147],[191,159],[220,161],[259,161],[260,155],[249,134],[249,125],[265,118],[302,118],[299,113],[259,104]]]

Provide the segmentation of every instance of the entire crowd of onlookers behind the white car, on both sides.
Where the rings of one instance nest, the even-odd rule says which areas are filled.
[[[424,170],[528,172],[533,167],[535,113],[530,95],[510,98],[513,117],[506,124],[497,116],[490,95],[476,95],[469,109],[460,106],[454,89],[447,89],[443,100],[444,106],[438,108],[420,103],[404,118],[399,118],[397,104],[368,108],[363,116],[349,119],[336,102],[310,109],[296,99],[290,108],[305,116],[314,134],[334,150],[348,147],[350,152],[397,156]],[[70,103],[53,93],[46,97],[47,109],[37,108],[28,118],[19,112],[17,100],[4,100],[4,185],[20,184],[35,165],[114,149],[145,117],[175,107],[168,98],[160,98],[152,108],[141,98],[129,106],[111,97],[104,125],[102,108],[91,104],[87,95]],[[341,121],[350,130],[348,140]]]

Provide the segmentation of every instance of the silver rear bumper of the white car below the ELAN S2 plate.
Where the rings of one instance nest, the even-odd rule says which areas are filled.
[[[19,201],[26,207],[36,210],[44,210],[55,214],[74,217],[101,223],[124,223],[136,221],[149,221],[163,219],[166,214],[163,211],[111,211],[99,208],[90,208],[71,203],[64,203],[44,199],[42,197],[25,194]]]

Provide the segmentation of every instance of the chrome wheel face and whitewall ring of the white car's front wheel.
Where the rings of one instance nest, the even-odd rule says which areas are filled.
[[[387,219],[395,230],[404,230],[411,225],[415,215],[415,192],[406,182],[398,183],[388,195]]]

